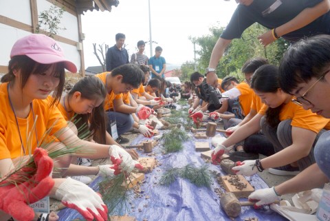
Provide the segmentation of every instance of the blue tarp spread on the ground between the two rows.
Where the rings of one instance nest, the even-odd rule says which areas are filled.
[[[164,133],[166,131],[161,132]],[[132,145],[138,144],[142,140],[146,140],[146,138],[140,135],[133,140]],[[135,210],[128,215],[134,216],[138,221],[144,219],[148,221],[231,220],[219,207],[220,200],[214,193],[214,188],[219,188],[219,185],[215,179],[210,189],[196,187],[189,180],[182,178],[177,178],[169,187],[159,185],[158,183],[168,167],[184,167],[190,163],[200,167],[205,164],[201,158],[201,153],[195,151],[195,141],[195,138],[191,136],[184,143],[184,150],[173,154],[163,155],[161,144],[153,149],[153,152],[156,154],[155,158],[161,165],[153,169],[151,173],[146,173],[146,182],[141,186],[141,189],[144,191],[143,196],[149,196],[149,198],[133,198],[132,204],[135,206]],[[199,139],[198,141],[210,140]],[[142,151],[139,154],[140,157],[146,156]],[[220,166],[210,164],[209,169],[226,175],[221,171]],[[267,187],[266,183],[257,174],[246,178],[250,180],[251,185],[255,189]],[[100,181],[102,181],[102,178],[97,178],[91,183],[90,187],[98,191],[98,182]],[[60,221],[75,220],[77,218],[83,220],[83,217],[73,209],[63,209],[58,215],[60,216]],[[263,221],[287,220],[269,209],[269,207],[259,210],[255,210],[252,207],[242,207],[241,215],[234,220],[245,220],[247,218],[258,218]]]

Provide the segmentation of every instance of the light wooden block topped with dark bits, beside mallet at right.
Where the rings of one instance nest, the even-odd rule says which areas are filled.
[[[221,180],[225,190],[234,193],[238,199],[248,198],[254,191],[254,188],[242,175],[221,176]]]

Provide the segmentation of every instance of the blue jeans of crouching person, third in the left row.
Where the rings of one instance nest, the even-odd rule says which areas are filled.
[[[134,120],[131,114],[124,114],[120,112],[105,112],[108,116],[107,131],[111,134],[111,123],[115,121],[117,123],[118,136],[124,134],[126,131],[132,128]]]

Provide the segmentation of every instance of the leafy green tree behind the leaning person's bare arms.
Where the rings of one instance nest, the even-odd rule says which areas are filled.
[[[194,38],[201,48],[197,52],[199,54],[199,70],[205,70],[208,67],[213,47],[224,29],[224,27],[212,27],[210,28],[210,34]],[[278,39],[267,47],[263,47],[259,43],[257,36],[265,32],[267,32],[267,28],[254,23],[254,25],[251,25],[250,28],[243,32],[241,39],[233,39],[219,61],[217,75],[220,78],[227,75],[242,78],[243,76],[240,73],[241,67],[245,61],[256,56],[267,58],[270,63],[278,65],[289,44],[284,39]]]

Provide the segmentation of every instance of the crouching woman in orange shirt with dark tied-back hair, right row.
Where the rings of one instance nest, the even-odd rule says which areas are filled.
[[[263,107],[252,120],[217,145],[212,151],[212,162],[221,160],[219,157],[226,147],[262,129],[274,145],[275,154],[261,160],[241,162],[233,168],[237,174],[252,176],[257,171],[269,169],[270,173],[277,175],[295,175],[312,165],[315,162],[314,145],[324,128],[328,129],[329,119],[292,103],[292,95],[283,92],[279,86],[278,67],[274,65],[259,67],[252,77],[251,88],[268,107]]]

